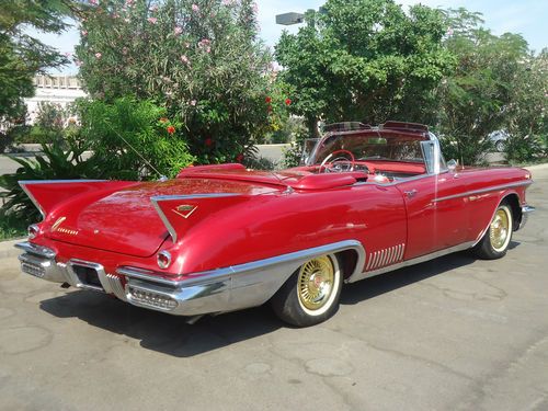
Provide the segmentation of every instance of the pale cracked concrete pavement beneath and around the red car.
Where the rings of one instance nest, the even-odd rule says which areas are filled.
[[[346,286],[292,329],[266,307],[187,326],[0,258],[0,410],[547,410],[548,170],[507,255]]]

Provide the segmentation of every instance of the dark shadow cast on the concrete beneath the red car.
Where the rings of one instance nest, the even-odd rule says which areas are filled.
[[[512,247],[517,244],[513,242]],[[343,290],[341,304],[356,305],[475,261],[469,253],[461,252],[350,284]],[[139,340],[145,349],[176,357],[207,353],[286,327],[267,305],[204,317],[191,326],[182,317],[134,307],[114,297],[84,290],[43,300],[41,308],[59,318],[79,318],[93,327]]]

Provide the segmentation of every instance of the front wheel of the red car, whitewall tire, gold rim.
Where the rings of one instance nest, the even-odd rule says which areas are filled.
[[[512,240],[513,229],[512,208],[503,203],[496,208],[488,230],[473,248],[473,252],[484,260],[504,256]]]

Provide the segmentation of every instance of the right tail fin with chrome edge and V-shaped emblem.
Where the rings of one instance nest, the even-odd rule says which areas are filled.
[[[236,193],[158,195],[150,198],[173,242],[176,242],[178,233],[183,232],[189,220],[202,219],[243,199],[243,195]]]

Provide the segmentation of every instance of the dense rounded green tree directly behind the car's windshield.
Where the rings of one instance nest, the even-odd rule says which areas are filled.
[[[434,123],[438,82],[454,62],[444,49],[441,11],[391,0],[328,0],[284,33],[276,59],[295,89],[295,114],[313,136],[319,119]]]

